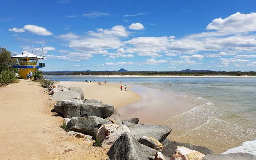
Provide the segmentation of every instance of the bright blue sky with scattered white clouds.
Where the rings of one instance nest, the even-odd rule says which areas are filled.
[[[0,46],[46,71],[256,71],[256,1],[2,1]]]

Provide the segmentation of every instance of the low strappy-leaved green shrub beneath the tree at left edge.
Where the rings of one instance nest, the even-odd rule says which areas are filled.
[[[15,82],[15,69],[13,68],[6,68],[0,74],[0,86]]]

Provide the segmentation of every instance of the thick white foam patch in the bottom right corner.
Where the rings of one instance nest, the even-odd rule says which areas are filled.
[[[241,146],[231,148],[223,152],[223,154],[238,153],[238,152],[250,153],[256,156],[256,139],[253,141],[245,141]]]

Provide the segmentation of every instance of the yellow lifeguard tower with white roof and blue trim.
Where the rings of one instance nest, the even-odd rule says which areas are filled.
[[[13,65],[12,67],[19,68],[20,78],[27,78],[27,74],[30,71],[33,72],[38,68],[41,68],[37,61],[38,59],[44,59],[43,57],[34,55],[32,53],[15,55],[12,56],[12,58],[17,58],[17,63],[15,63],[15,65]]]

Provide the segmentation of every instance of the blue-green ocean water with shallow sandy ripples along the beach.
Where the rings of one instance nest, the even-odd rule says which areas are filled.
[[[193,106],[191,110],[162,122],[172,128],[169,135],[172,141],[207,146],[216,153],[241,151],[256,155],[256,78],[46,77],[59,81],[122,81],[157,89],[168,95],[179,95],[191,101]]]

